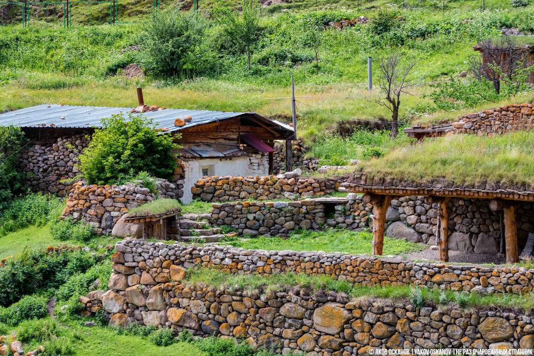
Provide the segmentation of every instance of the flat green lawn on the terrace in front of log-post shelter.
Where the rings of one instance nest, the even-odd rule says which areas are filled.
[[[319,232],[297,231],[287,239],[253,238],[247,241],[230,241],[233,246],[254,250],[294,250],[341,252],[344,254],[371,254],[373,234],[370,232],[353,232],[349,230],[325,230]],[[421,251],[425,249],[418,243],[384,237],[384,255],[398,255],[401,252]]]

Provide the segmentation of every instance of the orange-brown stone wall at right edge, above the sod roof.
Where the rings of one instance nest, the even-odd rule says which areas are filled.
[[[497,109],[470,113],[453,122],[454,133],[476,133],[479,136],[507,131],[532,130],[534,104],[512,104]]]

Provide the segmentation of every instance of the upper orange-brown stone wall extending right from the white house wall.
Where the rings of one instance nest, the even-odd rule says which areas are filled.
[[[297,199],[325,195],[334,191],[335,183],[326,179],[299,177],[299,173],[265,177],[207,177],[191,187],[193,199],[203,201],[237,201],[240,199]]]

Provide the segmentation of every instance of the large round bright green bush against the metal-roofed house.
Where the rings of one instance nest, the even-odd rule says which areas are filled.
[[[156,130],[152,119],[113,115],[103,118],[102,125],[79,156],[80,170],[89,184],[113,184],[142,171],[169,178],[176,169],[176,136]]]

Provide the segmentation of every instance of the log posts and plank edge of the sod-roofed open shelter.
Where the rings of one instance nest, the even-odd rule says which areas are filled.
[[[351,177],[351,180],[355,180]],[[357,183],[344,183],[343,187],[352,193],[364,194],[363,203],[373,204],[373,255],[382,255],[384,243],[384,226],[386,211],[391,199],[406,195],[425,195],[433,203],[439,203],[438,228],[436,238],[439,244],[439,260],[449,261],[449,214],[447,204],[452,197],[491,199],[490,210],[502,211],[501,241],[506,242],[506,263],[519,262],[517,246],[517,217],[515,202],[534,201],[534,192],[515,189],[475,189],[443,187],[403,187],[403,186],[368,186]]]

